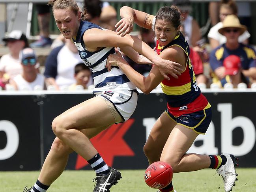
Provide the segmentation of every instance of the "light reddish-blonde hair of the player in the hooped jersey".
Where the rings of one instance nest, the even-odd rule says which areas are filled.
[[[52,6],[52,13],[54,13],[54,9],[71,9],[75,15],[77,15],[78,11],[80,11],[75,0],[49,0],[48,5]],[[86,9],[82,10],[81,14],[81,20],[85,20]]]

